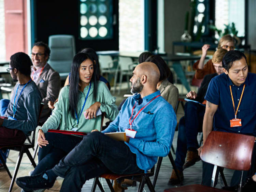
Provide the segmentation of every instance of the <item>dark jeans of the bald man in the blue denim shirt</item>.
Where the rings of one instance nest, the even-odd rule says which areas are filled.
[[[84,136],[52,171],[65,178],[60,191],[81,191],[86,180],[106,172],[143,173],[136,162],[136,154],[124,142],[95,131]]]

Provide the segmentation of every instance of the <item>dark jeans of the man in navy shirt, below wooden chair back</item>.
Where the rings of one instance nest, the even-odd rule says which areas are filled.
[[[256,165],[256,144],[254,144],[254,148],[253,148],[251,168],[248,171],[244,171],[243,181],[246,179],[246,177],[253,176],[255,174],[255,172],[256,172],[255,165]],[[213,164],[206,163],[203,161],[202,185],[211,186],[213,167],[214,167]],[[219,170],[217,170],[217,173],[218,172],[219,172]],[[234,174],[230,181],[230,186],[238,185],[240,182],[240,179],[241,179],[241,171],[234,171]],[[216,186],[217,181],[218,181],[218,177],[215,180],[214,186]]]

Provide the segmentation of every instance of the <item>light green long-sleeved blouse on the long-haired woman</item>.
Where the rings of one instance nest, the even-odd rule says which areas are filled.
[[[96,101],[101,103],[100,110],[105,112],[105,116],[114,120],[118,114],[117,106],[115,105],[116,98],[113,97],[106,86],[102,81],[98,81],[98,92],[96,101],[93,99],[93,89],[94,83],[91,83],[91,89],[85,103],[83,112],[93,105]],[[84,92],[79,91],[78,103],[77,103],[77,115],[79,116],[85,101],[85,97],[89,90],[89,85],[84,88]],[[69,85],[63,87],[60,90],[58,102],[54,105],[54,110],[52,115],[47,119],[47,121],[42,126],[42,131],[46,133],[48,129],[57,129],[60,127],[60,130],[71,131],[73,128],[77,128],[76,131],[90,132],[93,129],[98,129],[100,131],[101,127],[101,115],[97,116],[94,119],[85,119],[84,114],[79,119],[79,124],[76,127],[77,120],[71,116],[69,112]]]

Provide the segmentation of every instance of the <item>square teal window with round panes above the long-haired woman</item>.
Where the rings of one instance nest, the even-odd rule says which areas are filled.
[[[80,0],[80,38],[110,39],[113,37],[112,0]]]

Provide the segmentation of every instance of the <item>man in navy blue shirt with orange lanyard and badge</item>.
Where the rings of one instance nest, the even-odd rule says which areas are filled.
[[[256,136],[256,74],[248,73],[246,57],[238,50],[228,51],[222,65],[224,74],[211,80],[205,95],[203,143],[212,129]],[[202,147],[198,149],[199,154]],[[244,172],[244,178],[255,173],[255,149],[251,169]],[[203,162],[203,185],[211,185],[212,170],[212,164]],[[240,171],[235,171],[231,186],[239,180]]]

